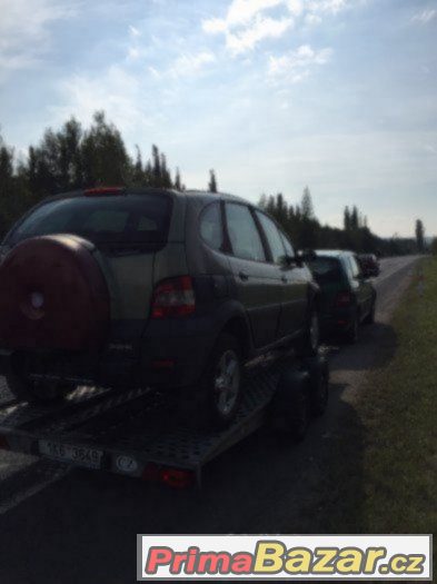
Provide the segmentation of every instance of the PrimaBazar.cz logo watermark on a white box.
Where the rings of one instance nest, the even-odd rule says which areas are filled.
[[[430,535],[138,535],[138,580],[433,577]]]

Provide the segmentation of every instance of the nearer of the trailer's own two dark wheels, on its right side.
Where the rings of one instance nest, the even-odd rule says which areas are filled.
[[[306,370],[289,368],[272,399],[272,426],[296,442],[305,438],[310,420],[310,377]]]

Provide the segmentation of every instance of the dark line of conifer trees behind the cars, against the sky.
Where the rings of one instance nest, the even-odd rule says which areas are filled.
[[[101,185],[158,187],[185,190],[179,168],[171,171],[157,146],[143,160],[136,147],[131,157],[117,127],[97,111],[89,128],[75,118],[54,131],[46,130],[27,157],[17,157],[0,136],[0,236],[30,206],[49,195]],[[207,189],[217,192],[216,172],[209,171]],[[415,239],[383,239],[373,234],[357,207],[346,207],[344,228],[324,226],[315,216],[306,187],[300,204],[289,205],[281,194],[264,195],[260,206],[271,214],[298,248],[347,248],[380,255],[416,251],[424,244],[424,228],[416,225]]]

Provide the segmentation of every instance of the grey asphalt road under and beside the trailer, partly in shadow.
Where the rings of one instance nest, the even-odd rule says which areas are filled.
[[[264,430],[210,463],[201,493],[66,471],[0,454],[0,582],[120,584],[136,580],[137,533],[318,533],[328,456],[366,370],[396,350],[389,320],[417,258],[389,258],[376,278],[377,323],[330,347],[327,414],[299,445]],[[8,399],[3,389],[0,398]]]

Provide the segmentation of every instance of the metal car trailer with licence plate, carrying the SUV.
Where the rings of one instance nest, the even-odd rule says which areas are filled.
[[[201,430],[175,417],[150,389],[78,387],[62,402],[0,404],[0,448],[72,466],[166,483],[201,486],[203,466],[260,426],[296,438],[309,412],[326,407],[329,369],[322,354],[299,360],[269,354],[245,368],[244,398],[225,429]]]

